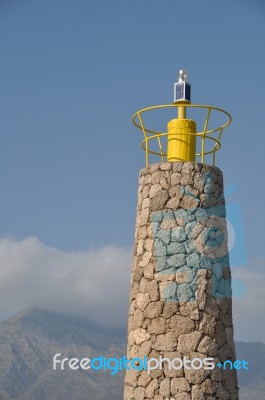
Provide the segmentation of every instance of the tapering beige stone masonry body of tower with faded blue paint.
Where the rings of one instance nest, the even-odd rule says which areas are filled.
[[[214,358],[126,372],[124,400],[237,400],[223,177],[199,163],[140,172],[127,358]]]

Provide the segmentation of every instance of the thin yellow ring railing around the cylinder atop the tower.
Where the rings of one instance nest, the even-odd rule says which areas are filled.
[[[160,131],[155,131],[153,129],[149,129],[145,126],[144,123],[144,118],[143,115],[152,110],[158,110],[158,109],[178,109],[178,107],[186,107],[186,108],[193,108],[193,109],[202,109],[206,110],[206,117],[204,120],[204,123],[202,124],[202,130],[199,132],[189,132],[185,133],[184,135],[193,135],[196,136],[196,142],[197,142],[197,150],[200,148],[199,152],[196,152],[196,161],[205,163],[205,156],[211,155],[212,157],[212,165],[215,165],[215,153],[220,149],[221,147],[221,137],[223,134],[223,130],[231,123],[232,117],[231,115],[227,112],[222,110],[221,108],[217,107],[212,107],[212,106],[205,106],[205,105],[200,105],[200,104],[165,104],[165,105],[159,105],[159,106],[152,106],[152,107],[147,107],[143,108],[142,110],[137,111],[134,116],[133,116],[133,123],[134,125],[141,129],[143,134],[144,134],[144,139],[141,143],[142,148],[145,151],[145,158],[146,158],[146,165],[149,164],[149,155],[157,155],[160,157],[160,160],[163,162],[167,158],[167,150],[166,146],[167,143],[163,143],[165,140],[168,140],[171,134],[168,132],[160,132]],[[176,110],[178,111],[178,110]],[[223,114],[225,117],[225,121],[223,124],[219,125],[217,128],[214,129],[209,129],[209,124],[210,124],[210,118],[213,115],[213,112],[218,112]],[[216,114],[216,113],[215,113]],[[176,114],[177,115],[177,114]],[[214,120],[214,118],[212,118]],[[201,141],[201,145],[199,146],[199,141]],[[156,148],[151,149],[151,145],[156,143]],[[210,145],[212,144],[212,145]]]

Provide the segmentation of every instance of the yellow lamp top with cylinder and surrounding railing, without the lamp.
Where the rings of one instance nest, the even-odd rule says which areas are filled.
[[[147,127],[145,117],[150,112],[159,112],[163,109],[172,110],[173,118],[168,122],[166,132]],[[206,112],[202,129],[197,132],[193,119],[187,119],[186,113],[193,110]],[[210,128],[213,114],[224,117],[224,122],[216,128]],[[178,118],[174,118],[177,116]],[[184,118],[183,118],[184,117]],[[215,118],[212,118],[213,122]],[[143,108],[133,115],[134,125],[144,134],[142,148],[145,151],[146,165],[149,165],[149,156],[159,157],[159,161],[197,161],[205,163],[207,155],[211,156],[209,164],[215,165],[215,153],[221,147],[223,130],[231,123],[232,117],[221,108],[191,103],[165,104]],[[212,121],[211,121],[212,123]],[[166,138],[166,141],[165,141]]]

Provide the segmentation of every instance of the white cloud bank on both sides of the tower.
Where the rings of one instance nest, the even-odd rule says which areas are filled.
[[[36,237],[0,239],[0,311],[35,305],[125,326],[131,261],[131,250],[121,247],[64,252]],[[235,338],[265,342],[265,260],[232,274],[245,287],[233,297]]]

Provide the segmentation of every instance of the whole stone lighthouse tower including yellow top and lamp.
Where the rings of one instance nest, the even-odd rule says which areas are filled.
[[[173,104],[133,117],[146,167],[130,290],[127,358],[134,368],[126,371],[124,400],[239,398],[223,176],[215,166],[231,117],[190,103],[190,89],[181,70]],[[166,132],[147,126],[151,113],[160,113]]]

